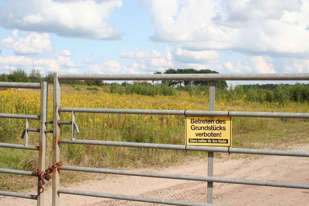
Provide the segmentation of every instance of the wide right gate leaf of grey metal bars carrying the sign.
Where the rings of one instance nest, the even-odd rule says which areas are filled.
[[[188,111],[186,110],[149,110],[149,109],[95,109],[95,108],[68,108],[60,106],[60,80],[207,80],[210,81],[210,98],[209,111]],[[54,74],[54,119],[53,122],[60,121],[60,112],[72,112],[72,129],[74,131],[73,122],[75,112],[85,113],[111,113],[111,114],[166,114],[166,115],[185,115],[185,116],[230,116],[230,117],[268,117],[268,118],[309,118],[308,113],[275,113],[275,112],[235,112],[235,111],[214,111],[215,102],[215,80],[309,80],[309,74],[151,74],[151,75],[62,75]],[[235,178],[220,178],[213,177],[213,155],[214,152],[230,152],[243,154],[263,154],[263,155],[282,155],[282,156],[297,156],[309,157],[309,152],[302,151],[282,151],[282,150],[264,150],[264,149],[247,149],[247,148],[221,148],[221,147],[204,147],[204,146],[186,146],[186,145],[169,145],[169,144],[149,144],[149,143],[132,143],[132,142],[112,142],[99,140],[81,140],[61,139],[60,125],[54,123],[53,134],[53,161],[60,161],[60,143],[62,144],[88,144],[88,145],[105,145],[105,146],[122,146],[122,147],[138,147],[138,148],[160,148],[160,149],[176,149],[190,151],[205,151],[208,152],[208,170],[207,176],[181,175],[181,174],[162,174],[149,173],[128,170],[111,170],[103,168],[89,168],[62,165],[53,172],[53,206],[59,205],[59,193],[97,196],[121,200],[133,200],[142,202],[152,202],[151,199],[145,197],[135,197],[128,195],[115,195],[98,192],[76,191],[59,188],[59,171],[87,171],[106,174],[121,174],[134,175],[156,178],[172,178],[172,179],[187,179],[207,182],[207,203],[193,202],[173,202],[174,205],[215,205],[213,200],[213,182],[225,182],[235,184],[250,184],[262,185],[271,187],[289,187],[309,189],[307,183],[294,182],[275,182],[263,180],[248,180]],[[73,134],[73,132],[72,132]],[[172,204],[171,201],[178,200],[163,200],[157,199],[160,204]]]

